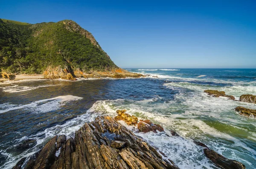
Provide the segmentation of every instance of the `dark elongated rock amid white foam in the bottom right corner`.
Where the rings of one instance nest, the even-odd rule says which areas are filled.
[[[228,158],[225,158],[223,155],[218,154],[212,149],[204,149],[204,154],[221,169],[245,169],[244,164],[236,160],[230,160]]]

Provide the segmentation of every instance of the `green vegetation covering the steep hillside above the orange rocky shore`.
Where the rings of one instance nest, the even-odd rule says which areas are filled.
[[[117,68],[92,34],[72,20],[29,24],[0,19],[0,69],[41,74],[49,66],[82,72]]]

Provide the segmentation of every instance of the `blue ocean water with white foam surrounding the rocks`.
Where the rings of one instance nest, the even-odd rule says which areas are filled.
[[[256,104],[211,97],[214,89],[233,95],[256,95],[256,69],[127,69],[147,77],[125,79],[20,80],[0,83],[0,168],[40,150],[55,135],[74,137],[85,122],[98,115],[116,116],[126,109],[150,119],[163,132],[136,135],[156,146],[181,169],[218,169],[208,160],[200,141],[226,158],[256,169],[256,118],[234,109]],[[36,142],[17,148],[27,139]]]

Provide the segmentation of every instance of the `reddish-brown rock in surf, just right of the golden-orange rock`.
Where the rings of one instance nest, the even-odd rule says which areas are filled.
[[[157,133],[157,130],[160,132],[163,132],[163,127],[160,126],[159,124],[154,124],[150,120],[140,120],[138,123],[138,129],[140,132],[154,132]]]

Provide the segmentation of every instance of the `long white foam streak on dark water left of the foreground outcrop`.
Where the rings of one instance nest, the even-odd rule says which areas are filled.
[[[50,99],[38,100],[26,105],[13,105],[9,103],[3,103],[3,104],[0,104],[0,114],[9,112],[11,110],[17,110],[17,109],[33,109],[35,112],[45,113],[45,112],[57,110],[69,101],[80,100],[82,98],[83,97],[66,95],[66,96],[53,97]]]

